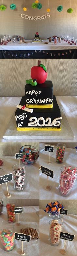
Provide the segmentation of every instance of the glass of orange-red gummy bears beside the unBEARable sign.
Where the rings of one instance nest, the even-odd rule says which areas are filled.
[[[15,208],[15,203],[13,202],[8,202],[6,205],[7,208],[7,216],[8,216],[8,221],[15,222],[15,213],[14,213],[14,208]]]

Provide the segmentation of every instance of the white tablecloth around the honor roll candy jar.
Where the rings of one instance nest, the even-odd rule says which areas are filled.
[[[15,152],[16,153],[16,152]],[[0,169],[0,175],[5,175],[7,173],[12,173],[12,166],[15,164],[19,164],[19,160],[15,159],[15,157],[0,157],[3,159],[4,165],[0,166],[3,168],[4,172],[2,174]],[[22,162],[20,161],[20,164]],[[39,199],[39,158],[34,165],[26,166],[26,187],[23,191],[16,191],[13,187],[13,180],[8,182],[8,191],[11,193],[10,199],[17,199],[21,197],[21,199]],[[6,184],[0,185],[0,196],[1,198],[5,198],[7,193]],[[36,197],[35,197],[36,195]]]

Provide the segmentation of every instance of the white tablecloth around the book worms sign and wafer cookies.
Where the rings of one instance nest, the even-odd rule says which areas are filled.
[[[37,211],[39,211],[39,206],[26,206],[23,207],[23,214],[19,216],[20,226],[17,226],[16,223],[18,222],[18,214],[16,214],[16,222],[15,225],[15,232],[21,233],[20,230],[25,227],[33,227],[37,229],[39,233],[39,218],[37,215]],[[7,220],[7,210],[6,207],[3,208],[3,214],[0,216],[0,221]],[[3,250],[2,244],[0,242],[0,256],[17,256],[20,255],[20,249],[22,249],[22,242],[16,241],[16,246],[11,252],[6,252]],[[23,250],[25,251],[26,256],[39,256],[39,240],[30,240],[30,243],[23,242]]]

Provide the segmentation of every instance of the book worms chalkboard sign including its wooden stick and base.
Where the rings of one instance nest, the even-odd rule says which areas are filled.
[[[23,242],[30,242],[31,236],[21,234],[21,233],[15,233],[15,240],[20,240],[22,241],[22,250],[20,250],[20,255],[25,255],[25,251],[23,251]]]

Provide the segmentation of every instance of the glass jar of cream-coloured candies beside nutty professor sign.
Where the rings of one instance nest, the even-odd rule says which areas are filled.
[[[58,220],[50,220],[50,243],[53,246],[57,246],[60,242],[60,232],[62,224],[58,223]]]

